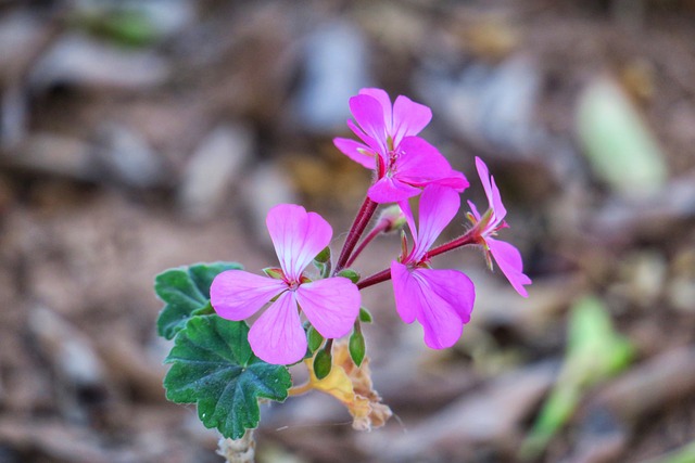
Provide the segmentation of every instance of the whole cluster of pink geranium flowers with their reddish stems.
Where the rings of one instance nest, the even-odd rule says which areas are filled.
[[[334,144],[351,159],[372,170],[374,182],[334,266],[330,257],[316,260],[332,237],[328,222],[301,206],[283,204],[267,216],[280,268],[266,269],[265,276],[228,270],[217,275],[211,287],[213,308],[228,320],[248,319],[268,306],[253,323],[249,342],[254,353],[269,363],[291,364],[305,358],[305,329],[309,324],[328,339],[358,330],[359,291],[388,280],[392,280],[395,308],[403,321],[417,320],[429,347],[451,347],[470,320],[476,291],[464,272],[434,269],[431,259],[466,245],[481,246],[489,266],[492,268],[494,259],[511,286],[528,296],[525,285],[531,280],[523,273],[520,253],[496,239],[497,232],[507,227],[506,209],[485,164],[476,158],[488,208],[480,214],[468,202],[471,226],[459,237],[432,247],[456,217],[460,193],[469,183],[433,145],[418,136],[432,118],[430,108],[403,95],[392,105],[381,89],[361,90],[350,100],[350,108],[354,121],[349,120],[348,126],[358,141],[337,138]],[[409,200],[418,195],[416,223]],[[356,276],[355,272],[346,272],[346,267],[371,239],[403,221],[394,219],[389,207],[372,231],[362,239],[377,208],[384,204],[400,207],[410,239],[403,232],[400,255],[382,272],[363,280],[346,278]],[[307,271],[313,261],[320,271]],[[308,323],[302,322],[302,313]],[[327,347],[330,346],[328,342]]]

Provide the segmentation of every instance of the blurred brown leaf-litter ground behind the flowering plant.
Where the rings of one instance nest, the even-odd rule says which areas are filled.
[[[164,399],[154,275],[275,265],[280,202],[338,250],[370,177],[331,140],[368,86],[432,107],[479,208],[488,163],[530,297],[479,250],[438,257],[478,300],[432,351],[366,290],[395,416],[358,433],[292,398],[258,461],[695,462],[692,0],[0,1],[0,462],[220,461]]]

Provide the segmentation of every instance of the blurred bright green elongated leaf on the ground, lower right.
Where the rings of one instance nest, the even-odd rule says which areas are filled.
[[[614,330],[601,299],[586,296],[577,301],[570,311],[563,369],[521,446],[521,458],[538,458],[572,416],[584,394],[628,368],[633,356],[632,345]]]

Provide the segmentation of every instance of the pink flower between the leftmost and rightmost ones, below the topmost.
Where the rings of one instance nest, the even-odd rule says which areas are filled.
[[[465,273],[431,269],[427,255],[459,206],[458,193],[451,188],[426,187],[416,228],[407,201],[401,203],[415,245],[400,262],[391,263],[395,306],[404,322],[417,320],[422,325],[425,344],[433,349],[451,347],[458,340],[476,299],[473,283]]]

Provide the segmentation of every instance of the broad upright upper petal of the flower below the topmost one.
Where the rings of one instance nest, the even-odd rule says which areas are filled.
[[[413,256],[419,260],[452,221],[460,207],[460,196],[446,187],[430,184],[420,196],[418,237]]]

